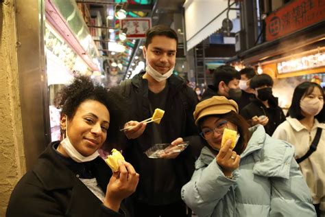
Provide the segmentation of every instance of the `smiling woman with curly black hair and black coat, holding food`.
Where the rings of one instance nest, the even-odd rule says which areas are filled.
[[[16,185],[6,216],[131,216],[123,200],[139,174],[121,161],[112,173],[98,153],[117,140],[123,99],[79,76],[58,102],[62,140],[49,144]]]

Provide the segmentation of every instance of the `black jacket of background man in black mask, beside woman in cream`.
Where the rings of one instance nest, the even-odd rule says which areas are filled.
[[[260,100],[254,99],[250,104],[245,106],[239,113],[248,120],[251,124],[251,119],[254,116],[265,115],[269,117],[269,122],[264,126],[265,132],[272,136],[274,130],[285,121],[285,114],[282,109],[278,106],[277,98],[269,100],[269,108],[267,108]]]

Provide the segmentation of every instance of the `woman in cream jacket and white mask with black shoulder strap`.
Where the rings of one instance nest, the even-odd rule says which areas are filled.
[[[314,82],[299,84],[293,91],[287,115],[287,120],[276,128],[272,137],[295,146],[295,157],[311,190],[317,216],[324,217],[325,109],[322,87]]]

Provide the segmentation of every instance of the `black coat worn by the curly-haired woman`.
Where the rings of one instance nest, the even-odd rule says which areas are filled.
[[[54,143],[49,144],[34,169],[27,172],[14,187],[7,217],[130,216],[123,204],[120,213],[104,207],[97,196],[56,156],[58,154],[52,148]],[[91,165],[99,187],[106,193],[112,171],[100,157],[91,161]]]

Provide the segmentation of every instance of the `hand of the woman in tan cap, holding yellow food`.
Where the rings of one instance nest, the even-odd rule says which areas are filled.
[[[231,140],[228,139],[224,146],[221,146],[216,161],[221,166],[225,176],[231,176],[232,171],[239,168],[241,157],[230,149]]]

